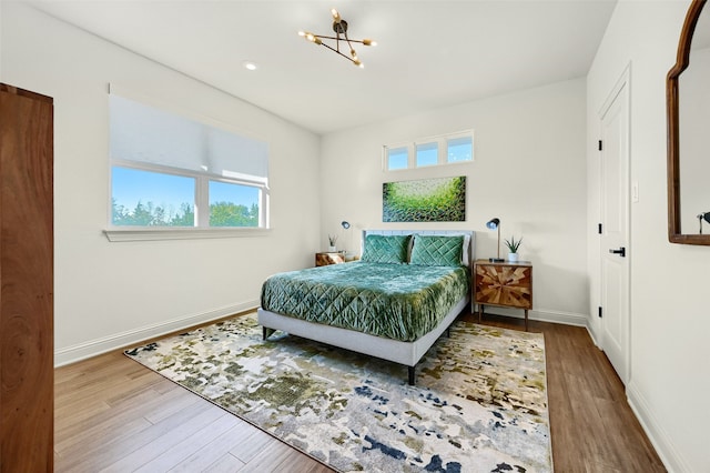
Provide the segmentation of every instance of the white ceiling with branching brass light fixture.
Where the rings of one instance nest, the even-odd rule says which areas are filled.
[[[586,76],[616,0],[102,0],[37,8],[316,133]],[[300,38],[332,34],[364,69]],[[248,71],[243,61],[258,64]]]

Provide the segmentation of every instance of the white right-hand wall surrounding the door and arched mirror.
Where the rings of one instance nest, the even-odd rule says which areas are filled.
[[[688,6],[619,1],[587,78],[588,149],[589,161],[598,159],[591,151],[598,138],[596,111],[631,63],[631,181],[639,183],[639,202],[631,204],[627,394],[670,471],[708,472],[710,310],[704,294],[710,248],[671,244],[667,230],[666,74],[676,62]],[[590,172],[590,222],[598,221],[598,174]],[[598,264],[594,260],[591,270]],[[592,292],[592,305],[596,298]],[[597,322],[592,330],[599,330]]]

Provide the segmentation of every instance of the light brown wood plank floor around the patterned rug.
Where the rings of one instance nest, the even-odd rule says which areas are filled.
[[[586,329],[530,331],[545,333],[555,471],[665,472]],[[331,471],[121,352],[57,369],[54,417],[55,472]]]

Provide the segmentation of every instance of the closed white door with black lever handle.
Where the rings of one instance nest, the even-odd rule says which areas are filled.
[[[626,385],[629,376],[628,76],[601,111],[601,349]]]

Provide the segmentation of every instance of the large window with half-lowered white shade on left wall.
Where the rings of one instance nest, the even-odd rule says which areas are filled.
[[[267,145],[112,93],[112,228],[266,228]]]

